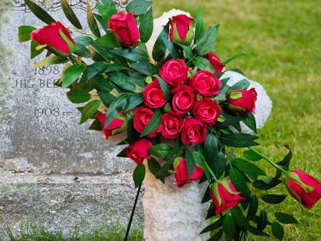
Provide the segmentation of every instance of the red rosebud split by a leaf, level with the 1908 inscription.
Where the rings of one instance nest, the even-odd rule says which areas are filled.
[[[105,126],[106,114],[98,113],[96,114],[101,125]],[[106,140],[109,136],[117,135],[128,128],[128,120],[124,113],[119,112],[116,118],[111,121],[111,123],[103,129],[106,135]]]

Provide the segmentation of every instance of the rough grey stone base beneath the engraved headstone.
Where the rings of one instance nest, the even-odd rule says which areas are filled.
[[[143,190],[136,207],[136,222],[143,220]],[[117,220],[126,227],[135,197],[131,173],[41,175],[1,172],[0,238],[5,235],[4,223],[12,231],[19,232],[19,225],[26,220],[41,222],[46,230],[54,232],[62,228],[65,233],[83,225],[83,220],[86,220],[86,232],[95,225],[112,225]]]

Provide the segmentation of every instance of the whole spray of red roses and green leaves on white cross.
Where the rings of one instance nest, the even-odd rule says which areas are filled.
[[[89,129],[103,131],[109,140],[125,136],[118,145],[128,146],[118,157],[137,163],[136,188],[146,174],[145,159],[163,183],[169,175],[175,175],[178,188],[208,182],[202,202],[213,203],[207,218],[220,215],[203,230],[220,228],[210,240],[219,240],[223,232],[228,240],[245,239],[247,232],[270,237],[264,232],[267,225],[282,240],[280,223],[297,223],[284,212],[275,212],[272,223],[265,210],[257,215],[259,200],[251,194],[253,188],[270,190],[283,183],[304,207],[320,200],[321,184],[290,168],[289,146],[285,145],[289,153],[278,163],[253,148],[259,145],[253,133],[270,115],[270,98],[242,71],[226,67],[243,54],[222,62],[211,52],[219,25],[204,29],[200,9],[196,20],[189,14],[172,14],[169,20],[162,19],[165,23],[158,19],[158,26],[153,26],[150,1],[133,0],[126,12],[118,12],[113,1],[102,0],[103,5],[96,5],[101,15],[93,14],[88,3],[92,34],[87,34],[66,0],[61,0],[62,9],[76,29],[66,28],[32,1],[24,1],[48,24],[42,29],[19,27],[19,41],[31,40],[31,58],[48,51],[33,67],[66,63],[56,85],[70,89],[67,97],[72,103],[86,103],[78,107],[80,124],[91,120]],[[82,35],[73,38],[74,32]],[[243,158],[235,148],[249,150]],[[274,177],[265,177],[255,165],[259,160],[276,169]],[[266,194],[260,199],[277,204],[286,197]]]

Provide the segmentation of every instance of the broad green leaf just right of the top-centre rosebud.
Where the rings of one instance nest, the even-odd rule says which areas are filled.
[[[195,44],[195,51],[198,56],[204,56],[206,53],[213,50],[217,33],[218,30],[215,26],[207,27],[200,32]]]

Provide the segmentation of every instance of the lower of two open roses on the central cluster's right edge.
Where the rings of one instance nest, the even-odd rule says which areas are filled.
[[[220,117],[220,105],[208,97],[202,101],[196,101],[193,106],[193,114],[201,123],[208,126],[214,125]]]

